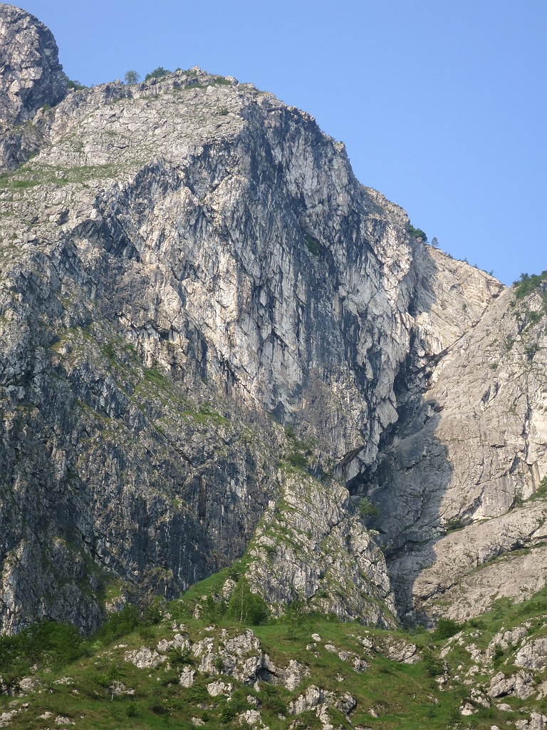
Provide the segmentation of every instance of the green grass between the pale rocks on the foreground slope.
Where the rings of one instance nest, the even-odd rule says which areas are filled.
[[[498,602],[493,612],[465,626],[461,637],[448,640],[435,639],[435,634],[425,631],[408,634],[369,630],[355,623],[340,623],[325,617],[308,617],[298,613],[293,613],[290,619],[284,621],[253,627],[263,652],[272,658],[276,666],[286,666],[290,659],[295,659],[309,667],[309,677],[294,691],[264,682],[255,686],[242,685],[232,676],[212,677],[199,672],[196,672],[193,687],[183,688],[179,685],[182,666],[190,664],[197,667],[199,661],[184,653],[169,653],[168,661],[155,669],[138,669],[125,661],[124,654],[128,650],[143,645],[155,648],[160,639],[171,639],[174,636],[173,621],[185,623],[193,642],[204,636],[214,637],[215,647],[221,629],[226,629],[229,636],[243,633],[247,627],[222,616],[217,618],[213,629],[210,628],[210,616],[201,620],[192,617],[195,604],[201,596],[220,590],[228,574],[228,570],[222,571],[193,586],[182,599],[164,605],[160,612],[150,612],[147,622],[141,622],[133,628],[131,621],[128,621],[127,626],[118,626],[117,629],[106,628],[101,634],[91,637],[83,647],[77,638],[77,653],[83,650],[89,655],[80,656],[77,661],[70,661],[70,656],[67,658],[70,652],[65,652],[64,658],[61,656],[63,647],[66,648],[67,642],[70,644],[69,637],[64,639],[64,644],[61,640],[61,650],[50,650],[49,656],[47,653],[38,656],[37,669],[34,670],[25,666],[23,660],[15,661],[11,667],[7,666],[5,652],[3,657],[0,653],[0,674],[12,682],[12,694],[0,695],[0,713],[17,710],[28,703],[27,707],[13,716],[9,727],[14,730],[53,727],[57,726],[56,718],[60,715],[69,718],[81,729],[190,729],[193,727],[192,718],[201,718],[205,727],[210,729],[236,727],[238,713],[250,707],[247,697],[255,696],[260,702],[263,723],[271,730],[288,728],[295,720],[296,727],[320,728],[321,722],[312,711],[296,717],[287,715],[285,719],[278,716],[286,712],[284,708],[290,700],[305,693],[311,684],[338,694],[352,694],[357,699],[357,707],[350,715],[353,726],[378,730],[434,730],[447,727],[489,730],[492,725],[503,730],[509,727],[509,720],[514,723],[517,718],[529,717],[529,713],[535,710],[547,712],[546,701],[535,699],[536,694],[524,701],[513,697],[496,701],[510,705],[512,711],[498,710],[492,704],[492,707],[480,709],[469,718],[462,717],[459,712],[460,704],[469,696],[472,686],[489,681],[486,673],[478,672],[472,683],[468,679],[465,684],[465,673],[473,664],[465,646],[473,642],[478,649],[484,650],[492,636],[502,627],[511,629],[523,621],[530,624],[531,634],[538,637],[545,635],[547,590],[515,606]],[[170,618],[166,616],[166,611]],[[132,621],[135,623],[134,616]],[[209,630],[206,630],[208,626]],[[123,637],[115,635],[124,631]],[[319,634],[321,641],[310,650],[306,646],[313,642],[312,633]],[[360,642],[362,637],[372,639],[377,649],[366,654]],[[381,645],[392,639],[418,645],[420,661],[403,664],[386,658]],[[440,691],[435,678],[443,673],[443,661],[439,653],[447,641],[451,647],[446,655],[450,678],[445,689]],[[327,650],[326,644],[334,645],[337,651]],[[1,648],[0,645],[0,651]],[[368,669],[361,674],[354,672],[348,662],[338,657],[340,650],[353,651],[365,658]],[[501,670],[506,676],[513,674],[514,652],[515,648],[508,648],[503,653],[498,651],[490,664],[490,675],[492,670]],[[39,685],[34,691],[21,696],[16,689],[17,675],[34,677],[39,680]],[[69,679],[59,683],[63,677]],[[344,677],[343,681],[341,677]],[[222,697],[210,697],[207,693],[206,684],[218,678],[233,683],[234,692],[230,701]],[[545,672],[537,673],[535,677],[538,684],[545,678]],[[134,690],[134,694],[112,694],[115,682],[123,683],[126,689]],[[371,714],[371,710],[377,717]],[[40,718],[47,712],[53,714]],[[335,726],[350,727],[338,710],[330,710],[330,717]]]

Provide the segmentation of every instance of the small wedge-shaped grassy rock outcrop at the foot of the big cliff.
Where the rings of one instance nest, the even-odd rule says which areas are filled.
[[[252,585],[278,612],[293,604],[394,626],[384,556],[348,491],[287,469],[280,482],[280,499],[265,511],[249,546]]]

